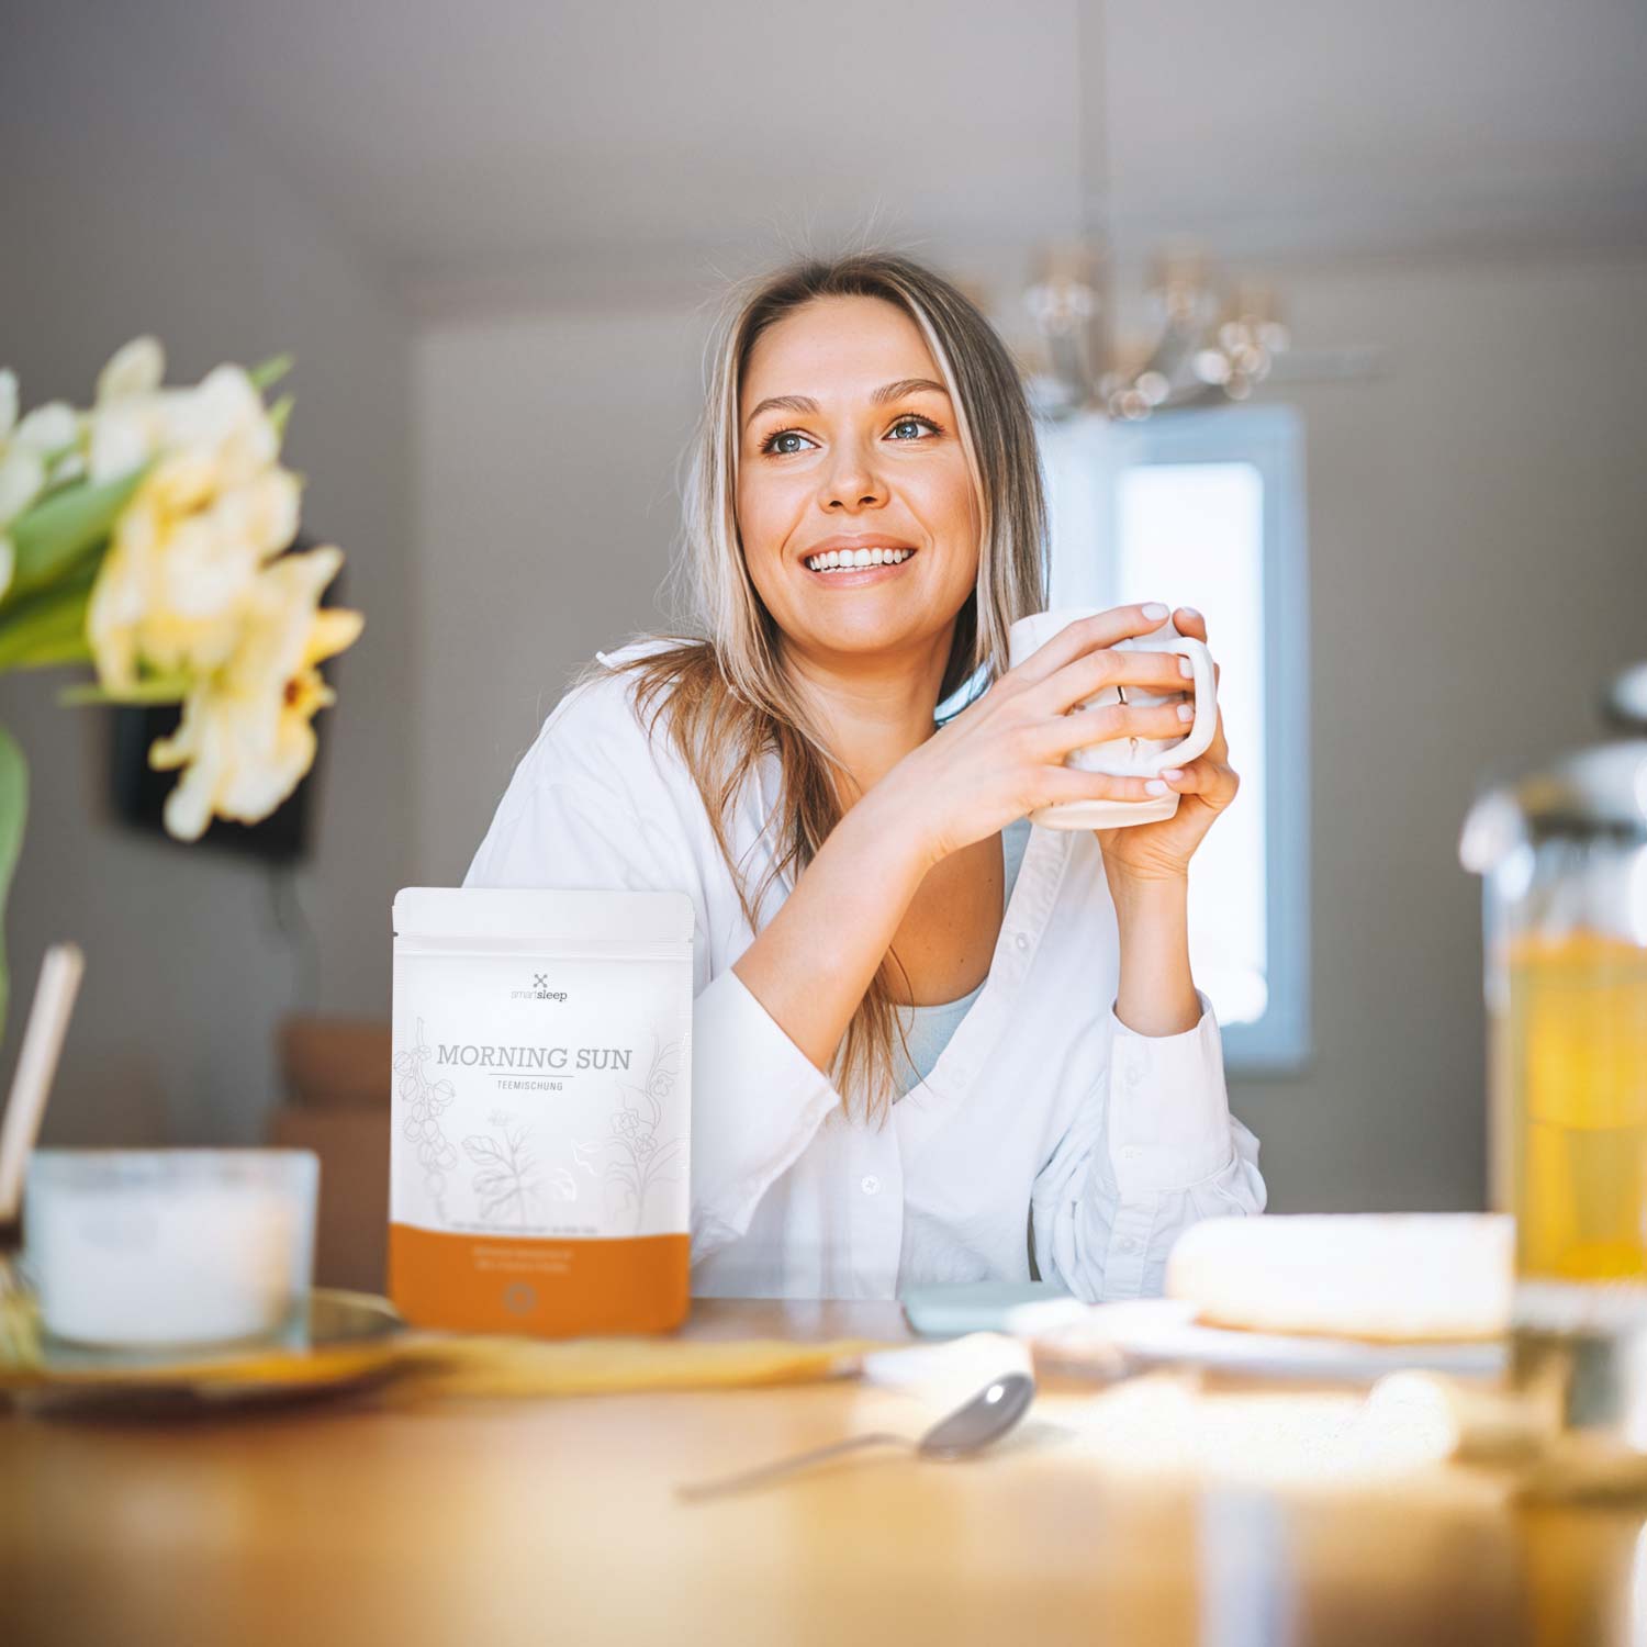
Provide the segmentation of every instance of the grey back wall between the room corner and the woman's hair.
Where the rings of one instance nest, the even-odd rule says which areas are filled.
[[[572,670],[662,621],[700,348],[685,308],[418,338],[420,879],[463,879]]]

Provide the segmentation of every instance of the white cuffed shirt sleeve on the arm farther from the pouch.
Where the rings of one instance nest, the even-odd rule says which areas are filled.
[[[1265,1207],[1258,1140],[1229,1107],[1224,1046],[1201,1019],[1141,1036],[1108,1015],[1108,1059],[1036,1178],[1036,1262],[1089,1303],[1159,1295],[1179,1230]]]

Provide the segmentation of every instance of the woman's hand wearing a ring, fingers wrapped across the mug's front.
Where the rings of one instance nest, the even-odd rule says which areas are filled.
[[[883,807],[888,827],[914,835],[929,865],[993,835],[1036,807],[1064,800],[1150,800],[1146,777],[1064,766],[1071,749],[1112,738],[1181,738],[1189,692],[1178,652],[1115,651],[1153,634],[1164,608],[1115,606],[1061,629],[975,703],[911,749],[860,800]],[[1150,708],[1127,703],[1077,710],[1105,687],[1171,693]]]

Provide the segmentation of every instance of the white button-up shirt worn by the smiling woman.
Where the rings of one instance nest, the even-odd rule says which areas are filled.
[[[1031,828],[990,975],[931,1075],[884,1125],[848,1118],[733,972],[754,931],[690,772],[631,707],[632,679],[562,698],[463,884],[690,894],[695,1293],[1023,1281],[1028,1214],[1043,1278],[1089,1301],[1135,1298],[1161,1291],[1184,1225],[1263,1211],[1258,1141],[1230,1115],[1206,996],[1176,1036],[1135,1034],[1113,1013],[1115,909],[1090,830]],[[758,776],[730,820],[751,889],[771,863],[776,756]],[[774,881],[761,926],[791,889]]]

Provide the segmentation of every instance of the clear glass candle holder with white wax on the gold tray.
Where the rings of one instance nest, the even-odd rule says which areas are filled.
[[[36,1150],[23,1273],[64,1344],[273,1341],[305,1313],[320,1159],[311,1150]]]

